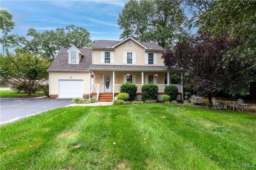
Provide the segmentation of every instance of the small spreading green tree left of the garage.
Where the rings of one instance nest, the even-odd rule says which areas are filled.
[[[7,56],[0,56],[0,78],[17,86],[23,86],[28,90],[28,96],[36,82],[48,79],[46,69],[50,61],[39,53],[30,53],[20,49],[15,54],[7,53]]]

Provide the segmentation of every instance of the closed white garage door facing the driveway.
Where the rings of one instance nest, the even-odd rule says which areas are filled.
[[[83,97],[83,80],[59,80],[59,98]]]

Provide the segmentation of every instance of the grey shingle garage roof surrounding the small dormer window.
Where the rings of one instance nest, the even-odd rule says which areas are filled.
[[[79,64],[68,63],[68,48],[62,48],[58,55],[52,61],[48,71],[88,71],[92,64],[92,49],[78,48],[84,56],[82,56]]]

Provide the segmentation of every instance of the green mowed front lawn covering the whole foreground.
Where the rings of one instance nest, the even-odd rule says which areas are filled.
[[[256,115],[237,111],[65,107],[3,125],[0,132],[1,170],[215,170],[256,163]]]

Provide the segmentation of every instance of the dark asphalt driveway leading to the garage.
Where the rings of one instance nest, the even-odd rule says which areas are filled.
[[[72,99],[0,98],[0,125],[71,104]]]

